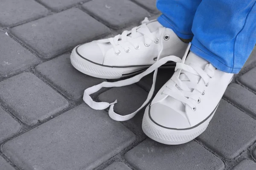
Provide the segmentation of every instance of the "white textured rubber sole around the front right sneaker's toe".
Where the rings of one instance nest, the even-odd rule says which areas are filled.
[[[215,108],[215,111],[218,107]],[[187,143],[189,141],[192,141],[197,136],[199,136],[201,133],[206,130],[207,126],[209,125],[210,120],[212,119],[212,115],[205,120],[201,125],[188,129],[188,130],[173,130],[173,129],[167,129],[164,127],[160,127],[159,125],[155,124],[148,115],[148,109],[149,105],[145,109],[145,113],[143,116],[142,121],[142,130],[143,132],[151,139],[163,143],[163,144],[169,144],[169,145],[175,145],[175,144],[183,144]]]

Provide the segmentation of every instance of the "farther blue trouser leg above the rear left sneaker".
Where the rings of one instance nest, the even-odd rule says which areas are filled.
[[[178,37],[192,39],[192,23],[202,0],[157,0],[162,15],[157,19],[164,27],[171,28]]]

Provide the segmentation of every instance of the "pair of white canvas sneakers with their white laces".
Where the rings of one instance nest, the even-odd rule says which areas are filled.
[[[163,27],[157,20],[145,18],[141,26],[131,31],[77,46],[70,58],[77,70],[93,77],[118,79],[137,74],[117,82],[102,82],[84,91],[83,99],[87,105],[96,110],[110,107],[109,116],[117,121],[131,119],[147,105],[153,96],[157,69],[160,66],[175,67],[176,62],[172,78],[146,107],[142,128],[157,142],[183,144],[204,132],[233,78],[233,74],[219,71],[189,52],[190,46],[172,29]],[[94,102],[90,97],[103,87],[131,85],[153,71],[148,98],[134,113],[121,116],[113,111],[116,101]]]

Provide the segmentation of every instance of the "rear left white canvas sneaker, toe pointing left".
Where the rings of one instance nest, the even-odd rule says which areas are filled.
[[[72,65],[84,74],[118,79],[145,71],[157,60],[175,55],[183,57],[188,43],[182,42],[172,29],[157,20],[142,22],[141,26],[121,35],[78,45],[70,56]],[[160,55],[159,55],[160,54]],[[175,62],[166,66],[175,67]]]

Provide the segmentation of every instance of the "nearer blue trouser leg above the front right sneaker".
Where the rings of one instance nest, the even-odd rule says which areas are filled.
[[[256,0],[203,0],[192,32],[193,53],[237,74],[256,43]]]

